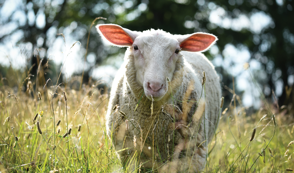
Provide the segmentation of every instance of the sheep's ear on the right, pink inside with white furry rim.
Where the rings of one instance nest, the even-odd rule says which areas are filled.
[[[204,52],[216,43],[218,38],[208,33],[194,33],[180,35],[177,40],[181,44],[180,47],[182,50],[189,52]]]

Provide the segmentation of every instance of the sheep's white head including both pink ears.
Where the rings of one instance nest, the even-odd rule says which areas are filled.
[[[207,33],[172,35],[153,29],[137,32],[114,24],[101,24],[96,28],[112,45],[130,47],[137,82],[144,87],[146,96],[155,101],[168,91],[168,79],[173,78],[182,50],[202,52],[217,40]]]

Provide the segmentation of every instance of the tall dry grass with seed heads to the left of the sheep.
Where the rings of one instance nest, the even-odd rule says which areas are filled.
[[[105,146],[109,146],[105,144],[107,136],[103,135],[108,95],[100,94],[101,89],[96,87],[99,83],[86,85],[81,91],[69,89],[64,84],[54,91],[56,87],[49,87],[49,83],[44,89],[40,86],[36,90],[31,87],[22,91],[4,85],[1,80],[2,169],[9,172],[49,172],[56,168],[76,172],[83,168],[83,172],[86,169],[108,172],[103,156],[110,153],[108,149],[104,151]],[[63,91],[67,93],[67,101]],[[37,122],[39,129],[36,128]],[[65,137],[70,128],[71,134]],[[114,158],[111,154],[108,157],[111,160]]]

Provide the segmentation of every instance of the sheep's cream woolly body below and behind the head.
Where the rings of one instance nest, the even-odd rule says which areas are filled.
[[[112,131],[115,149],[118,151],[123,148],[134,148],[133,139],[136,136],[136,150],[141,153],[140,162],[144,163],[149,160],[149,162],[145,163],[145,167],[153,167],[155,157],[157,157],[156,163],[167,162],[168,144],[169,157],[173,156],[173,158],[166,163],[166,166],[162,170],[169,169],[167,166],[170,165],[180,167],[180,169],[184,170],[189,168],[190,163],[192,163],[190,168],[192,172],[198,171],[197,169],[202,169],[206,158],[206,144],[209,143],[214,133],[220,111],[221,89],[219,78],[213,65],[201,53],[183,52],[185,58],[181,57],[178,59],[173,79],[171,79],[170,87],[172,88],[172,92],[169,87],[168,93],[172,93],[173,97],[178,100],[190,100],[190,102],[179,102],[176,99],[172,99],[169,94],[166,94],[160,101],[153,102],[153,115],[151,116],[152,101],[146,97],[141,99],[134,112],[141,97],[140,92],[143,90],[143,87],[136,82],[136,69],[134,69],[134,62],[132,57],[129,57],[128,51],[130,50],[128,49],[126,51],[124,63],[113,81],[111,95],[116,95],[110,97],[106,116],[108,134]],[[199,101],[200,99],[203,71],[206,72],[206,94],[204,95],[203,88],[201,100],[204,100],[206,96],[206,106],[200,101],[198,108],[196,108],[197,102],[191,101]],[[173,107],[173,103],[180,110],[177,107]],[[118,110],[125,113],[126,117],[121,114],[115,114],[113,107],[116,104],[120,106]],[[205,117],[202,116],[204,106]],[[195,108],[196,111],[194,113]],[[175,110],[175,113],[173,113],[173,110]],[[204,121],[204,119],[210,122]],[[127,125],[126,120],[128,120]],[[165,122],[163,124],[164,120]],[[201,122],[200,125],[199,122]],[[191,124],[189,125],[189,123]],[[186,129],[188,125],[189,128]],[[113,130],[111,130],[111,127]],[[128,129],[126,130],[126,128]],[[168,135],[170,135],[171,139],[169,143]],[[148,141],[148,137],[151,141]],[[198,148],[198,145],[206,139],[206,143],[203,143]],[[190,141],[191,143],[189,145]],[[151,150],[148,149],[149,146]],[[143,149],[142,152],[141,147]],[[128,149],[118,154],[124,159],[127,159],[128,156],[133,156],[134,153],[134,149]],[[191,162],[192,155],[194,156]],[[188,166],[185,166],[183,163],[187,163]]]

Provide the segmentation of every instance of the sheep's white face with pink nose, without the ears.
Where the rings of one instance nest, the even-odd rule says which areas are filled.
[[[144,87],[148,99],[160,100],[168,90],[168,79],[173,78],[180,56],[180,43],[161,30],[143,32],[133,42],[136,79]]]

